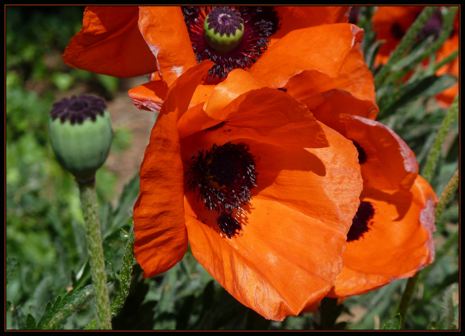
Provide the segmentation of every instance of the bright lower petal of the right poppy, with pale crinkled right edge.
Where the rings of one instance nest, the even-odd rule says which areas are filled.
[[[364,189],[361,200],[375,214],[363,238],[347,243],[344,268],[330,297],[363,294],[400,278],[412,277],[434,261],[432,187],[418,176],[410,191]]]

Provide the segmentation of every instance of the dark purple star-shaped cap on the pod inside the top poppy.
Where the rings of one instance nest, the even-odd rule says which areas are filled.
[[[214,7],[208,13],[208,28],[215,32],[219,32],[223,35],[231,35],[236,32],[236,29],[241,29],[241,23],[244,23],[244,19],[240,17],[240,13],[235,9],[229,9],[227,6]]]

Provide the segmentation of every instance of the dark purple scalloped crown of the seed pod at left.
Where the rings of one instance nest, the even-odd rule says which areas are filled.
[[[100,97],[81,94],[79,97],[73,95],[71,98],[65,97],[53,103],[50,115],[52,119],[60,118],[64,123],[82,123],[86,119],[95,120],[97,114],[103,116],[106,109],[105,100]]]

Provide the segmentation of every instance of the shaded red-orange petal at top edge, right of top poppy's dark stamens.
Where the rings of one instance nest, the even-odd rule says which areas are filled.
[[[280,28],[270,36],[271,46],[278,39],[295,29],[345,23],[348,21],[348,6],[276,6]]]

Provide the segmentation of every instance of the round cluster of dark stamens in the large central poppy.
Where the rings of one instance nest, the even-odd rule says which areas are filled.
[[[203,200],[208,209],[232,212],[250,201],[257,174],[246,144],[213,144],[205,154],[201,151],[192,159],[192,178],[187,184],[194,192],[198,189],[197,200]]]

